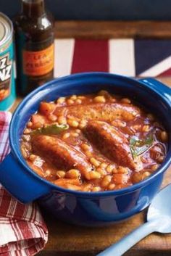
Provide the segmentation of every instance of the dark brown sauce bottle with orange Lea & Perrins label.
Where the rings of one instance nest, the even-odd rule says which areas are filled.
[[[44,0],[22,0],[14,30],[17,92],[25,96],[54,74],[54,20],[46,12]]]

